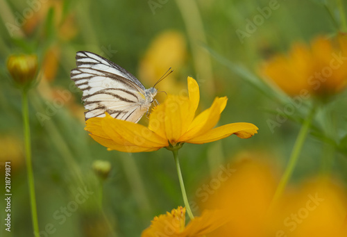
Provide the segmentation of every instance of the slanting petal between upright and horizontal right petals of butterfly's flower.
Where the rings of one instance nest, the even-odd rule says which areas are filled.
[[[180,138],[180,142],[191,140],[196,136],[201,136],[214,126],[216,126],[221,117],[221,112],[226,108],[227,97],[216,98],[210,108],[203,111],[196,116],[192,124],[190,124],[188,131]]]

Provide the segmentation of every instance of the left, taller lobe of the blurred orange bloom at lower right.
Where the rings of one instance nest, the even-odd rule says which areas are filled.
[[[219,180],[220,186],[211,182],[209,189],[204,187],[205,193],[199,193],[202,209],[221,209],[228,216],[228,223],[208,236],[264,236],[266,212],[276,188],[272,170],[249,158],[228,169],[233,172]]]

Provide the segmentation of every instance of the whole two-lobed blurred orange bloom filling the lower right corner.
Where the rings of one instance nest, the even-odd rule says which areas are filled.
[[[227,217],[207,237],[347,236],[347,196],[336,183],[316,178],[291,186],[271,207],[278,171],[251,159],[229,168],[233,172],[221,177],[219,186],[214,181],[214,186],[203,186],[205,193],[199,192],[202,209],[223,210]]]

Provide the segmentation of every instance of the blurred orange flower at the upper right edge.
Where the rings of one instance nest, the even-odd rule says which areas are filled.
[[[347,38],[328,40],[319,36],[309,46],[296,43],[289,55],[277,55],[261,72],[289,95],[324,97],[344,90],[347,85]]]

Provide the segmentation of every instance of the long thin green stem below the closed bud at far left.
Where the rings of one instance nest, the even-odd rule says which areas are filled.
[[[22,115],[23,115],[23,127],[24,127],[24,142],[25,142],[25,153],[26,153],[26,172],[28,175],[28,186],[30,193],[30,204],[31,204],[31,218],[33,222],[33,230],[35,237],[40,237],[39,224],[37,220],[37,209],[36,209],[36,197],[35,197],[35,183],[33,174],[33,165],[31,161],[31,138],[30,138],[30,126],[29,126],[29,113],[28,113],[28,94],[27,90],[23,90],[22,100]]]

